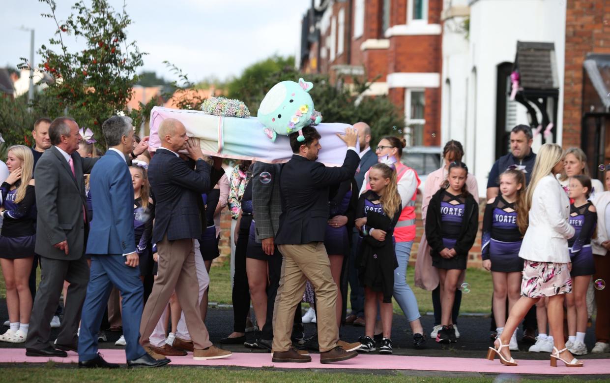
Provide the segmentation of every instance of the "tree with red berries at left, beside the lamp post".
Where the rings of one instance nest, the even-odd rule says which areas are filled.
[[[35,114],[51,119],[70,115],[80,126],[93,129],[105,147],[101,123],[126,108],[137,81],[136,70],[143,64],[144,53],[135,42],[127,41],[126,29],[132,21],[125,5],[121,12],[115,12],[106,0],[91,0],[90,5],[79,0],[68,19],[59,21],[56,3],[39,1],[49,5],[50,12],[41,16],[54,20],[57,30],[50,46],[42,45],[38,50],[40,69],[55,81],[32,103]],[[65,35],[81,39],[85,49],[70,51]],[[22,60],[20,66],[29,67],[27,60]]]

